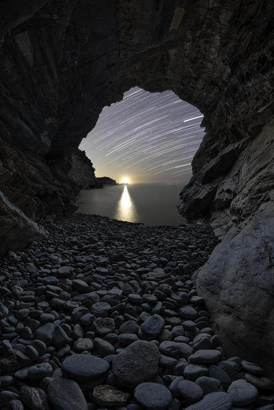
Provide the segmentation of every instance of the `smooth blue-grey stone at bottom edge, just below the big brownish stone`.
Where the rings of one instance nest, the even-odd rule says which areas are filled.
[[[134,397],[146,409],[168,409],[172,395],[169,389],[157,383],[141,383],[134,391]]]

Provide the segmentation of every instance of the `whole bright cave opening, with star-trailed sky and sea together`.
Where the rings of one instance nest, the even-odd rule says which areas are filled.
[[[82,192],[79,212],[146,225],[181,224],[176,202],[192,176],[192,158],[204,134],[202,117],[172,91],[138,87],[105,107],[79,148],[93,162],[96,177],[124,185]]]

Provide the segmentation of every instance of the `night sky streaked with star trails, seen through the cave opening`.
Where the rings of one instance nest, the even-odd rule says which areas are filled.
[[[93,162],[97,177],[185,184],[203,138],[202,119],[197,108],[172,91],[148,93],[135,87],[102,110],[79,148]]]

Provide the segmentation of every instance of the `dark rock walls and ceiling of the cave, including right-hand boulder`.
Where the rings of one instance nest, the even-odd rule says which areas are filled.
[[[223,237],[197,287],[226,347],[239,348],[237,326],[245,357],[260,355],[253,340],[271,328],[274,306],[271,1],[3,0],[0,8],[0,223],[13,224],[16,206],[25,237],[39,236],[24,218],[71,209],[78,145],[102,108],[132,86],[174,91],[203,112],[206,128],[179,210]],[[271,330],[262,364],[273,338]]]

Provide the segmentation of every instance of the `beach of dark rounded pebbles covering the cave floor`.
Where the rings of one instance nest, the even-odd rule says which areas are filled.
[[[208,226],[91,215],[0,269],[0,409],[271,410],[260,366],[225,359],[192,273]]]

